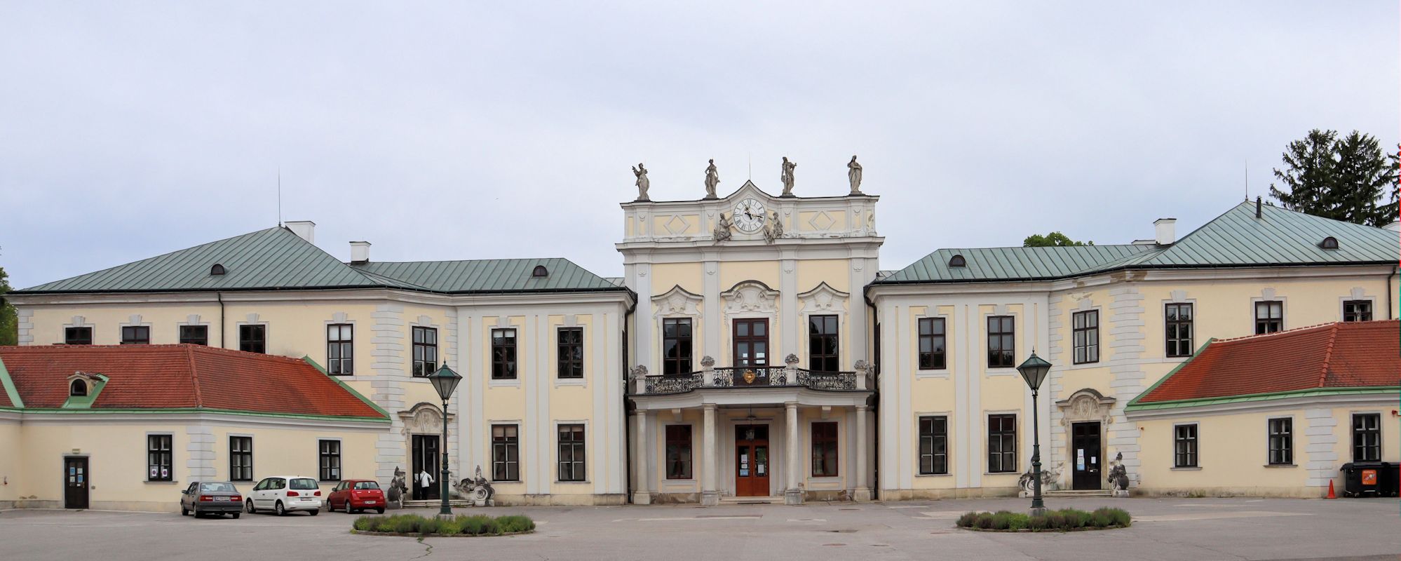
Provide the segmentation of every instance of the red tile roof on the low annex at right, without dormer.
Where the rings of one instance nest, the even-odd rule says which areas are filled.
[[[1401,386],[1401,321],[1352,321],[1212,341],[1136,403]]]

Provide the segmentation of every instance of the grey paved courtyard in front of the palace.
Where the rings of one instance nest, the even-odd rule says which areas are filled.
[[[1311,560],[1401,558],[1394,499],[1054,499],[1129,509],[1133,527],[1066,534],[974,533],[971,509],[1021,499],[804,506],[467,509],[525,513],[528,536],[353,536],[339,512],[193,519],[140,512],[0,512],[0,560]],[[405,511],[432,515],[436,511]]]

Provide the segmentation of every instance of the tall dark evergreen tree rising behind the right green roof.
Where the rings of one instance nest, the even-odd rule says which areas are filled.
[[[1397,156],[1383,154],[1372,135],[1313,129],[1285,147],[1283,161],[1281,185],[1269,185],[1283,208],[1367,226],[1397,219]]]

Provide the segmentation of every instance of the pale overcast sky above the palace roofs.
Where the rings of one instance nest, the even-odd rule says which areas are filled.
[[[622,275],[618,203],[843,195],[881,268],[1178,236],[1313,128],[1401,140],[1398,3],[0,0],[0,266],[28,288],[277,224],[374,261]],[[751,171],[752,170],[752,171]]]

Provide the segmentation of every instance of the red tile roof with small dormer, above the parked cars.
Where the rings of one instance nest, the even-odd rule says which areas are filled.
[[[206,408],[385,418],[311,363],[286,356],[205,345],[52,345],[0,346],[0,362],[25,408],[63,407],[67,377],[87,372],[108,377],[92,410]]]

